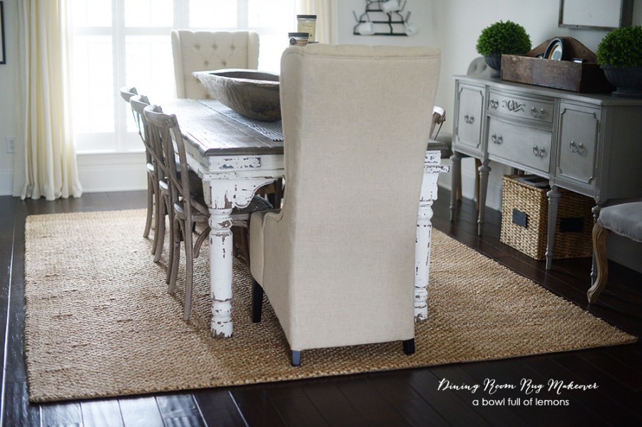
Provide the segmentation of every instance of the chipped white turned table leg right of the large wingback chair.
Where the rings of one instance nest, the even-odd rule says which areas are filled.
[[[419,199],[417,237],[414,247],[414,321],[428,319],[432,203],[437,200],[439,173],[448,171],[447,166],[440,164],[440,156],[439,151],[428,151],[424,162],[424,180]]]

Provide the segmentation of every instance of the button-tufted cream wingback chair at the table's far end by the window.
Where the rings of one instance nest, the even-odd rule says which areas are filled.
[[[194,71],[258,68],[255,31],[172,30],[171,37],[177,98],[210,98]]]

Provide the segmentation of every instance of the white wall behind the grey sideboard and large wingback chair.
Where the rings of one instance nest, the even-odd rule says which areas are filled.
[[[406,10],[412,11],[411,19],[419,26],[419,34],[411,37],[354,36],[355,19],[352,11],[360,14],[365,0],[338,1],[339,43],[396,44],[399,46],[434,46],[442,51],[442,70],[439,78],[436,103],[446,110],[447,121],[442,131],[452,130],[454,108],[454,83],[452,76],[464,74],[473,58],[477,37],[486,26],[500,20],[511,20],[524,26],[537,46],[555,36],[570,36],[596,51],[606,31],[574,30],[559,28],[560,0],[407,0]],[[642,24],[642,1],[634,2],[633,24]],[[445,161],[444,163],[449,163]],[[501,175],[510,172],[505,165],[491,162],[491,175],[486,205],[501,209]],[[464,197],[474,195],[474,163],[462,161],[462,192]],[[439,185],[450,188],[449,175],[442,175]]]

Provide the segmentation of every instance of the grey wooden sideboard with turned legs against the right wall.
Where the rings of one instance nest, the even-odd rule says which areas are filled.
[[[549,180],[546,269],[552,268],[560,188],[608,200],[642,197],[642,99],[454,76],[452,188],[462,155],[481,160],[477,232],[484,230],[489,161]],[[451,220],[457,209],[452,192]]]

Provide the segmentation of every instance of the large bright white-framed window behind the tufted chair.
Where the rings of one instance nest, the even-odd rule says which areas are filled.
[[[259,68],[278,72],[295,0],[71,0],[71,14],[77,151],[121,153],[143,147],[118,90],[133,85],[158,103],[174,96],[171,29],[257,31]]]

